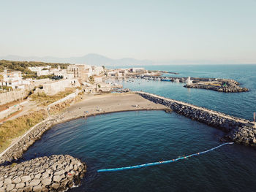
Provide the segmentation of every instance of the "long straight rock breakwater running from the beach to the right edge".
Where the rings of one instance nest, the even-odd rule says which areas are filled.
[[[167,99],[151,93],[141,91],[136,91],[135,93],[149,101],[170,107],[174,112],[184,115],[187,118],[222,129],[222,131],[227,133],[225,136],[226,139],[243,145],[256,146],[256,128],[254,128],[249,120],[236,118],[222,112],[208,110],[204,107],[198,107],[182,101]]]

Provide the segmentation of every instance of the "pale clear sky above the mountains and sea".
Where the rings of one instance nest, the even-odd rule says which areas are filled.
[[[256,63],[256,0],[0,0],[0,57]]]

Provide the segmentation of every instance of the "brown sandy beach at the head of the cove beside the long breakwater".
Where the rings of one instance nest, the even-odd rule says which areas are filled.
[[[89,117],[109,112],[123,112],[136,110],[165,110],[162,104],[155,104],[135,93],[108,93],[86,96],[83,101],[73,104],[61,115],[62,120]]]

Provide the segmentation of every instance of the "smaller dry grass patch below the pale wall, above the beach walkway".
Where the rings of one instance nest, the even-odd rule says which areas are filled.
[[[31,101],[37,101],[37,103],[41,106],[48,106],[59,99],[68,96],[70,93],[74,93],[75,88],[66,88],[65,91],[61,91],[53,96],[48,96],[45,93],[34,93],[32,94]]]

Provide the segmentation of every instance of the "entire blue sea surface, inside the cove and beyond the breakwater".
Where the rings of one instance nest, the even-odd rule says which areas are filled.
[[[182,77],[232,78],[248,93],[187,89],[182,83],[134,80],[125,88],[148,91],[252,120],[256,66],[146,66]],[[175,74],[170,74],[175,76]],[[97,174],[97,169],[164,161],[220,145],[222,131],[176,113],[118,112],[61,123],[47,131],[23,159],[69,154],[88,165],[83,183],[70,191],[256,191],[256,151],[226,145],[172,164]]]

